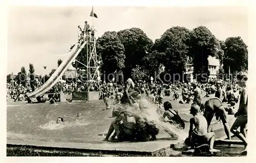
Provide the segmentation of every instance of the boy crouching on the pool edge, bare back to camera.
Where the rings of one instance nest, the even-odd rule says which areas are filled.
[[[190,140],[191,145],[195,147],[196,144],[209,144],[210,152],[218,152],[219,150],[214,149],[215,133],[207,131],[207,121],[203,115],[200,114],[200,107],[197,104],[191,105],[190,114],[194,116],[189,121],[190,126],[188,131],[188,139]]]

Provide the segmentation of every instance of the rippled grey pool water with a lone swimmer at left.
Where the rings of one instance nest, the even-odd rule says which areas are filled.
[[[169,99],[164,97],[164,101]],[[191,104],[170,102],[173,108],[179,111],[180,117],[188,122],[192,117],[189,114]],[[105,109],[103,100],[56,104],[7,102],[7,139],[74,143],[102,142],[111,122],[114,121],[114,118],[109,118],[112,109],[103,109]],[[78,112],[83,115],[76,117]],[[55,123],[58,117],[64,119],[63,124]],[[233,115],[229,115],[230,119],[231,117]],[[213,119],[213,129],[223,126],[222,123],[215,122],[216,120]],[[184,132],[188,133],[188,129],[189,124],[186,123]],[[157,138],[163,137],[170,137],[170,135],[160,131]]]

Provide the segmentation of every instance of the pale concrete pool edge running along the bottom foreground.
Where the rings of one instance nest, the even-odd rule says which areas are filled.
[[[224,129],[217,129],[218,138],[224,138]],[[225,134],[225,133],[224,133]],[[91,142],[91,143],[58,143],[42,141],[19,141],[7,139],[7,147],[26,147],[50,151],[73,151],[82,153],[118,154],[129,153],[135,155],[159,155],[165,151],[168,154],[179,155],[183,148],[183,141],[180,139],[159,138],[152,142]],[[178,149],[178,150],[177,150]]]

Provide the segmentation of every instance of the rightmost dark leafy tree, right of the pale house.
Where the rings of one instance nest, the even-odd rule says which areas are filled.
[[[247,45],[241,37],[229,37],[225,40],[223,55],[223,68],[225,73],[234,74],[248,69],[248,50]]]

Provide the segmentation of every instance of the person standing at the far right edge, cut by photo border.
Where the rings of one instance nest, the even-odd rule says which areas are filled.
[[[246,140],[246,126],[247,126],[247,106],[248,106],[248,87],[247,87],[247,74],[244,72],[240,72],[237,76],[238,83],[241,87],[243,87],[241,95],[240,95],[240,103],[238,111],[234,114],[234,117],[237,118],[234,121],[230,131],[236,135],[241,141],[244,143],[244,151],[247,152],[247,140]],[[240,127],[240,132],[238,128]]]

